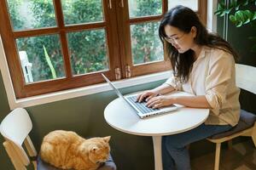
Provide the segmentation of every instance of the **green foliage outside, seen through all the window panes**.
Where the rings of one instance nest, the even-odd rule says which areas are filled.
[[[9,0],[9,12],[12,24],[16,29],[25,27],[26,21],[22,20],[16,11],[24,1]],[[55,13],[51,0],[31,0],[28,8],[32,11],[32,28],[56,26]],[[64,22],[70,24],[84,24],[103,20],[101,0],[62,1]],[[161,1],[137,0],[136,13],[147,16],[148,11],[157,8],[156,13],[161,14]],[[133,30],[133,60],[134,64],[163,59],[162,46],[157,37],[158,22],[149,22],[136,25]],[[24,37],[16,40],[19,51],[26,51],[28,60],[32,63],[32,77],[34,82],[49,80],[55,77],[65,77],[63,55],[59,35],[38,37]],[[76,31],[67,33],[69,56],[73,75],[84,74],[92,71],[108,69],[108,52],[106,32],[104,29],[91,31]],[[45,49],[44,49],[45,47]],[[52,67],[47,62],[48,54]]]

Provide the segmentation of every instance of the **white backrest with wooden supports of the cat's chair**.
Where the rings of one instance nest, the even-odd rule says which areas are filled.
[[[17,108],[5,116],[0,125],[0,132],[5,139],[3,143],[16,169],[26,169],[30,163],[26,151],[22,147],[25,143],[30,156],[36,156],[37,151],[32,145],[28,133],[32,130],[32,121],[25,109]]]

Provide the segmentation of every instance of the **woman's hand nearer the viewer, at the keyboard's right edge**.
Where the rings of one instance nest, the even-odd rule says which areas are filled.
[[[174,103],[174,98],[171,96],[156,96],[148,100],[147,106],[153,109],[172,105]]]

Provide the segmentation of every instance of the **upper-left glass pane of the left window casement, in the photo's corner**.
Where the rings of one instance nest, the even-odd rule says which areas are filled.
[[[56,26],[52,0],[7,0],[15,31]]]

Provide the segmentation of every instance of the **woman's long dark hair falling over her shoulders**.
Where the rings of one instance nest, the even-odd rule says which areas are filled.
[[[192,26],[195,26],[197,30],[195,37],[196,44],[223,49],[224,51],[232,54],[235,59],[238,58],[238,55],[234,49],[231,48],[229,42],[226,42],[222,37],[208,33],[206,27],[202,25],[197,14],[195,14],[195,12],[190,8],[178,5],[165,14],[159,27],[159,36],[163,44],[166,42],[165,26],[167,25],[174,26],[184,33],[189,33]],[[192,65],[195,61],[194,51],[189,49],[185,53],[179,54],[177,49],[169,42],[166,42],[166,50],[171,59],[174,75],[178,77],[181,82],[187,82],[189,80],[189,73],[192,70]]]

